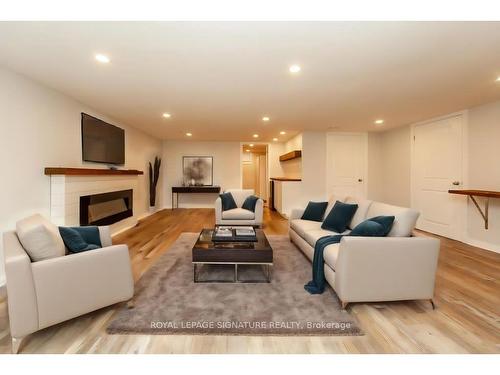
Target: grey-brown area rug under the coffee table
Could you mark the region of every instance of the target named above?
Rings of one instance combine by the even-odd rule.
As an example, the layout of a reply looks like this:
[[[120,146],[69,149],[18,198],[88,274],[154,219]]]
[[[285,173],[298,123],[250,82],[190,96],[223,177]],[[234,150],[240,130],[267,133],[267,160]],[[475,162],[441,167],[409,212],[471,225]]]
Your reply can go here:
[[[311,295],[311,263],[286,236],[268,236],[274,251],[271,283],[194,283],[183,233],[136,284],[134,307],[121,308],[110,334],[362,335],[330,287]],[[227,278],[231,266],[203,266],[200,279]],[[259,266],[239,268],[241,280],[264,278]]]

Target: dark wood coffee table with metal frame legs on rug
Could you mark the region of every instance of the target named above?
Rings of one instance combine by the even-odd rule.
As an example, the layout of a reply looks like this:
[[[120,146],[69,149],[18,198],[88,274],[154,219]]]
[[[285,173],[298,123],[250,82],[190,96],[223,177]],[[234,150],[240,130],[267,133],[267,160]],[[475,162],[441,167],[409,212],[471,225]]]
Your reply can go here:
[[[234,265],[232,281],[210,280],[205,282],[259,283],[271,282],[273,249],[262,229],[255,229],[257,242],[213,242],[214,229],[203,229],[193,247],[193,280],[198,280],[198,266],[204,264]],[[265,280],[239,280],[238,265],[261,265],[265,267]]]

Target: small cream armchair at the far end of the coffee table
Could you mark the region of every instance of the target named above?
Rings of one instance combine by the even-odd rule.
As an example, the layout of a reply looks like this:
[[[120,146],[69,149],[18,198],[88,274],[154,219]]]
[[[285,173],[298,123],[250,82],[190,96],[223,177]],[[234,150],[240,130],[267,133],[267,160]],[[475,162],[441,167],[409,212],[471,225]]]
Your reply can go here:
[[[264,201],[259,198],[255,204],[255,212],[241,208],[245,199],[254,195],[253,189],[229,189],[225,191],[231,193],[238,208],[222,211],[222,201],[220,197],[215,201],[215,224],[216,225],[252,225],[261,226],[264,213]]]

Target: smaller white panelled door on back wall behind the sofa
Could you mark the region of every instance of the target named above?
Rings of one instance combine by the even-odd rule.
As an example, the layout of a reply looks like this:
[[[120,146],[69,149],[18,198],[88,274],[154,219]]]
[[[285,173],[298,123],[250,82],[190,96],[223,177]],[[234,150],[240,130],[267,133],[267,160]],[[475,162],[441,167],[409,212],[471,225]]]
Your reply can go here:
[[[327,137],[327,193],[366,198],[367,135],[329,133]]]

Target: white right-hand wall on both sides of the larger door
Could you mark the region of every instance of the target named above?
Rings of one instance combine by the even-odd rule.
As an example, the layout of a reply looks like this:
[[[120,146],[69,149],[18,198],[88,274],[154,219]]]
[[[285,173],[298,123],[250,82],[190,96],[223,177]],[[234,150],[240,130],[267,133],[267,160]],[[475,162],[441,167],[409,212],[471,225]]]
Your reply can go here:
[[[463,188],[500,191],[500,101],[469,109],[467,127],[468,156],[464,162],[468,184]],[[369,161],[369,199],[410,206],[410,130],[407,125],[370,135],[369,155],[377,161]],[[467,242],[500,252],[500,200],[490,199],[489,218],[490,229],[485,230],[476,207],[468,202]]]

